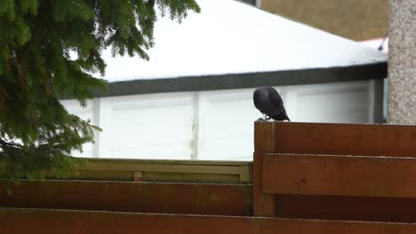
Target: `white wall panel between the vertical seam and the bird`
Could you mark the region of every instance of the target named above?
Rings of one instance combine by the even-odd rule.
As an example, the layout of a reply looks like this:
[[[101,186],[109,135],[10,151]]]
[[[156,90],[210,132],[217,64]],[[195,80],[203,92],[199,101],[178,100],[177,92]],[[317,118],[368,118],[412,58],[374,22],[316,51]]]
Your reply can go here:
[[[201,92],[199,160],[252,158],[253,121],[260,116],[252,104],[252,91]]]

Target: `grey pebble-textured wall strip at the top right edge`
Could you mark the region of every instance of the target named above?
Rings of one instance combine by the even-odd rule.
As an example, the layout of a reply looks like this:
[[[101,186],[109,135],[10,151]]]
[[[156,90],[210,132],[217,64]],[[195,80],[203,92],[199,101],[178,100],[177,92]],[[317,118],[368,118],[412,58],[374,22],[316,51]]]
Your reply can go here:
[[[388,123],[416,124],[416,1],[390,0]]]

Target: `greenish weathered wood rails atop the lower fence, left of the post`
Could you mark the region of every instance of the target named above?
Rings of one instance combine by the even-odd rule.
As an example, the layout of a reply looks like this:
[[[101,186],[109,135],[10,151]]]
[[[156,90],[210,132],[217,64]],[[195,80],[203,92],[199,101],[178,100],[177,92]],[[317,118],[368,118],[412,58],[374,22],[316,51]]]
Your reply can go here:
[[[251,168],[249,161],[88,159],[87,167],[76,171],[69,179],[252,183]]]

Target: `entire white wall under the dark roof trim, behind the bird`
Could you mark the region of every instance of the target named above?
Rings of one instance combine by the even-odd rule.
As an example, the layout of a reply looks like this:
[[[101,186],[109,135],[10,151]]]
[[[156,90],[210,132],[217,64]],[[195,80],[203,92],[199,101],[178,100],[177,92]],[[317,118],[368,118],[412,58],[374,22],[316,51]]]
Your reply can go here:
[[[97,98],[71,113],[99,125],[95,145],[84,157],[252,160],[254,124],[262,114],[254,89],[156,93]],[[372,81],[276,87],[292,121],[372,122]],[[75,154],[80,156],[80,154]]]

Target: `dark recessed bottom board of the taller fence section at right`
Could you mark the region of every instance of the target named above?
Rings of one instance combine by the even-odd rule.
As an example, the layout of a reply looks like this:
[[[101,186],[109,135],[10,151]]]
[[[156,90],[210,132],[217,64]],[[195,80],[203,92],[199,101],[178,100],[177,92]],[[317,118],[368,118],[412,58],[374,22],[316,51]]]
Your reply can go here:
[[[416,222],[416,199],[276,194],[276,217]]]

